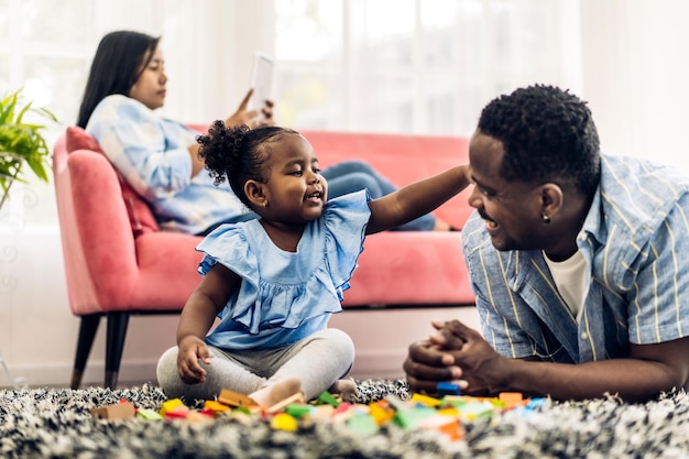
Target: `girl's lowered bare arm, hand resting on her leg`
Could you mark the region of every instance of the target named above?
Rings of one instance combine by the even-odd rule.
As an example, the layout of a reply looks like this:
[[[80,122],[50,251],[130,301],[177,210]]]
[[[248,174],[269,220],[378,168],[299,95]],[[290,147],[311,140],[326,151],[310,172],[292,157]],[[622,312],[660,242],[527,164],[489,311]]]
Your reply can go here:
[[[198,361],[210,364],[206,335],[240,282],[241,278],[232,271],[216,264],[184,305],[177,326],[177,371],[185,383],[205,381],[206,370]]]

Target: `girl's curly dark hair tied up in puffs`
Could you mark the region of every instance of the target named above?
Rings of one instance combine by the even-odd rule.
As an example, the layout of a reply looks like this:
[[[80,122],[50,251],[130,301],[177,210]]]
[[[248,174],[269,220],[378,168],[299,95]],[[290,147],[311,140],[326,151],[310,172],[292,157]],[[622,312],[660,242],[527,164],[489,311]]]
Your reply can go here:
[[[227,127],[221,120],[215,121],[206,134],[198,135],[198,156],[206,162],[216,185],[227,181],[232,192],[249,208],[251,201],[244,194],[247,181],[267,182],[263,164],[271,154],[272,142],[284,134],[298,134],[297,131],[276,125],[262,125],[250,129],[245,124]]]

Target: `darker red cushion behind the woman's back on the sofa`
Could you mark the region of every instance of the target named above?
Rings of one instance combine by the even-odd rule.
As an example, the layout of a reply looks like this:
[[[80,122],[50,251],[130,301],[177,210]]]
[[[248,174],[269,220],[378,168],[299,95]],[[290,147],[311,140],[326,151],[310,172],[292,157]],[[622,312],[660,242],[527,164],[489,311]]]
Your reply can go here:
[[[96,153],[100,153],[105,156],[102,150],[88,132],[78,125],[70,125],[67,128],[65,144],[67,153],[72,153],[76,150],[91,150]],[[122,188],[122,199],[129,214],[129,221],[132,226],[132,232],[134,237],[139,237],[146,232],[160,231],[157,221],[151,211],[151,208],[146,201],[139,196],[136,192],[127,183],[124,177],[113,168],[118,179],[120,181],[120,187]]]

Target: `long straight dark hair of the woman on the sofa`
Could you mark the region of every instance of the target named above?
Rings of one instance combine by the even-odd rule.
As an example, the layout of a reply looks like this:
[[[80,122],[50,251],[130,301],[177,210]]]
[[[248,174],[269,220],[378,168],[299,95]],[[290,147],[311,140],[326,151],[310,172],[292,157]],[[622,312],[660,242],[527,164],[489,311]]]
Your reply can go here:
[[[94,109],[106,97],[129,96],[153,58],[160,40],[160,36],[132,31],[110,32],[100,40],[84,89],[77,125],[86,128]]]

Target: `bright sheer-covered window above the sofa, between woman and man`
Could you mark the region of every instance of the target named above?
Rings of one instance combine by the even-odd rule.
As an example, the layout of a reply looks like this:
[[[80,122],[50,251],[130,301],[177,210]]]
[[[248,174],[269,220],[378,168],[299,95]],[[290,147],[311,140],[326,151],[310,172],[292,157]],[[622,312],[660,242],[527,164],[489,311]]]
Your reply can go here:
[[[577,4],[276,0],[277,107],[297,129],[471,133],[496,94],[579,86]],[[394,11],[394,14],[392,13]]]

